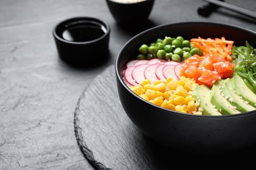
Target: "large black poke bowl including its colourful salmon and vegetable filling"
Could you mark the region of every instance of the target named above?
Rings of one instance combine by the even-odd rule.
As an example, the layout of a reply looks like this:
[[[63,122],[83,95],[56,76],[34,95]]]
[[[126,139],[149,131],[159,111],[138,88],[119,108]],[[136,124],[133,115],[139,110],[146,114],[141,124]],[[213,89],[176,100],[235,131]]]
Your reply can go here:
[[[254,31],[210,22],[139,33],[115,63],[125,113],[144,135],[177,150],[229,152],[255,144],[255,40]]]

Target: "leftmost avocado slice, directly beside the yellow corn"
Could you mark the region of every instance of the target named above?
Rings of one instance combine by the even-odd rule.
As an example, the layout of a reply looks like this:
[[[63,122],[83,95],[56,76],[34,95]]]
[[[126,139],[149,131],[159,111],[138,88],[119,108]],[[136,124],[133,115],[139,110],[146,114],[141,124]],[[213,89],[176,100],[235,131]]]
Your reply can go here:
[[[210,102],[210,92],[211,90],[205,85],[198,86],[192,92],[193,97],[198,103],[200,103],[200,108],[203,109],[203,114],[205,115],[222,115],[214,105]]]

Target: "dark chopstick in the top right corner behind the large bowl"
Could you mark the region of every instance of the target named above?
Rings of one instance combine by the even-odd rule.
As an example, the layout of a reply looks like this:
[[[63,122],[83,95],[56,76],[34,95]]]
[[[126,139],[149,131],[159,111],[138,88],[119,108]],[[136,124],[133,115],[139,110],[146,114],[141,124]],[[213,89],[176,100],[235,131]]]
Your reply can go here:
[[[219,7],[223,7],[225,9],[234,10],[236,12],[239,12],[240,14],[245,14],[247,16],[256,18],[256,12],[244,9],[242,7],[238,7],[238,6],[232,5],[230,3],[225,3],[223,1],[215,1],[215,0],[203,0],[203,1],[205,1],[207,3],[214,4],[214,5],[218,5]]]

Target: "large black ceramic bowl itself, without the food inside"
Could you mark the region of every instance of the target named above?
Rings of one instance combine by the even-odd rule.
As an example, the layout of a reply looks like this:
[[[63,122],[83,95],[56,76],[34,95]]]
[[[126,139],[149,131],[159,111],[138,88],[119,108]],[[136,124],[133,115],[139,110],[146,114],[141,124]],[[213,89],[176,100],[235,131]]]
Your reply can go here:
[[[162,144],[190,152],[227,152],[256,143],[256,110],[232,116],[203,116],[163,109],[133,93],[123,81],[127,61],[135,59],[141,44],[181,35],[226,37],[236,46],[256,46],[256,33],[242,27],[204,22],[160,25],[128,41],[116,59],[116,79],[123,109],[142,133]]]

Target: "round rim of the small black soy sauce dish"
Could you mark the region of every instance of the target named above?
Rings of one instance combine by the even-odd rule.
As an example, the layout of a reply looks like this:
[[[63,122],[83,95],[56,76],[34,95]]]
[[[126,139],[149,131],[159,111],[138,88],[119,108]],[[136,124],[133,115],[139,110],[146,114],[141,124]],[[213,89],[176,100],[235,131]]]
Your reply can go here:
[[[104,33],[104,35],[102,35],[101,37],[98,37],[97,39],[93,39],[91,41],[83,41],[83,42],[68,41],[58,36],[58,33],[56,31],[58,27],[60,27],[61,25],[66,25],[72,22],[79,22],[79,21],[88,21],[88,22],[93,22],[95,24],[101,24],[106,28],[106,33]],[[64,44],[73,44],[73,45],[92,44],[93,42],[98,42],[102,39],[105,39],[105,37],[107,37],[109,34],[110,34],[110,25],[107,22],[104,22],[103,20],[90,17],[90,16],[77,16],[73,18],[68,18],[66,20],[62,20],[61,22],[58,22],[58,24],[56,24],[53,27],[53,37],[59,42],[63,42]]]

